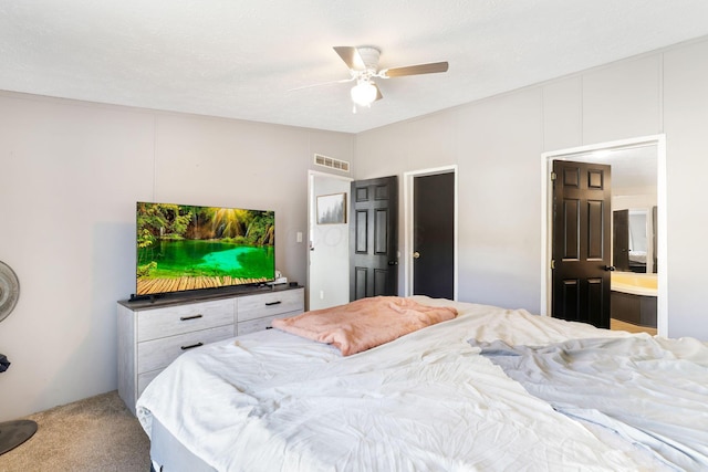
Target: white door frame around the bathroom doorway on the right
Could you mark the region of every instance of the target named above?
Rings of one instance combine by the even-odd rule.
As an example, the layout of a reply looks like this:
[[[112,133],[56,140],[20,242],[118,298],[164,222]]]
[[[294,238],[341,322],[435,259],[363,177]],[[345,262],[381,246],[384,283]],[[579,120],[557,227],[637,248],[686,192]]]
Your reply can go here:
[[[658,270],[658,298],[656,327],[659,336],[668,335],[668,256],[667,256],[667,200],[666,200],[666,135],[650,135],[631,139],[622,139],[610,143],[600,143],[589,146],[580,146],[570,149],[560,149],[541,155],[541,314],[551,314],[551,254],[552,252],[552,217],[553,186],[551,185],[551,171],[553,160],[572,158],[573,155],[583,155],[592,151],[622,149],[637,146],[656,146],[657,182],[657,249],[656,258]]]

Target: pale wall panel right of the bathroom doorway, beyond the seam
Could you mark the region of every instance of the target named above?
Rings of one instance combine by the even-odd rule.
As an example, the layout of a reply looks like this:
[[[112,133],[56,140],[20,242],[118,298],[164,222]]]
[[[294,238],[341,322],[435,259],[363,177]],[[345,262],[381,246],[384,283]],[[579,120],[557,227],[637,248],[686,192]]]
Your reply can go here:
[[[664,54],[664,129],[668,175],[669,334],[708,340],[708,41]],[[662,268],[659,268],[659,271]]]

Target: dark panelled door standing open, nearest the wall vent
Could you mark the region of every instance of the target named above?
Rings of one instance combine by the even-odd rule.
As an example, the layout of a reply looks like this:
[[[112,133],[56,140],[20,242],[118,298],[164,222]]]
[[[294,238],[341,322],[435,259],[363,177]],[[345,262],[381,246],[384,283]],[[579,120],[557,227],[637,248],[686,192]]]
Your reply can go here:
[[[398,294],[398,178],[352,182],[350,300]]]

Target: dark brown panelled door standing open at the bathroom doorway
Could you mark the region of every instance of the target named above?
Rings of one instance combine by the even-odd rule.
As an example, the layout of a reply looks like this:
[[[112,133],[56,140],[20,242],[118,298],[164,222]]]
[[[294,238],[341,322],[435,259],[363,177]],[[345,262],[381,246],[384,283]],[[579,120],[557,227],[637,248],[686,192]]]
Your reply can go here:
[[[610,327],[610,166],[553,162],[553,317]]]

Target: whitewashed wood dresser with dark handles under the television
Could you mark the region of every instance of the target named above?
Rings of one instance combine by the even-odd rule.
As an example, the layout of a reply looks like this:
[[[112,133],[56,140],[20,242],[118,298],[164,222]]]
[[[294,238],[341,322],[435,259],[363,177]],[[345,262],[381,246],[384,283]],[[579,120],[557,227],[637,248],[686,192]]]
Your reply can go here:
[[[118,395],[135,415],[145,387],[180,354],[303,311],[300,286],[118,302]]]

